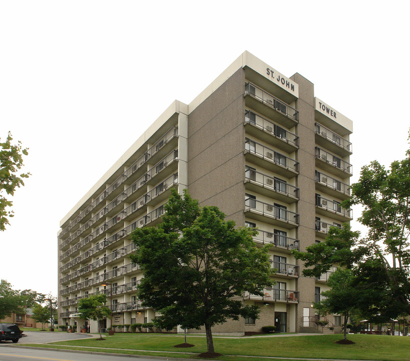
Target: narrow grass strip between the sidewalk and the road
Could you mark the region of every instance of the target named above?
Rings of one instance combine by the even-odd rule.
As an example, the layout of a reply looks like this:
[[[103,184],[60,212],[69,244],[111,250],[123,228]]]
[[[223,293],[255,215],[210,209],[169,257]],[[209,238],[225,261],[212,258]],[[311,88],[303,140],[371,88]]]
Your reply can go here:
[[[62,345],[55,345],[55,344],[37,344],[37,343],[26,343],[22,344],[22,346],[29,346],[29,347],[38,347],[38,348],[49,348],[49,349],[66,349],[66,350],[77,350],[77,351],[88,351],[88,352],[104,352],[104,353],[119,353],[119,354],[132,354],[132,355],[140,355],[140,356],[157,356],[157,357],[173,357],[173,358],[187,358],[187,359],[195,359],[195,358],[203,358],[197,357],[196,354],[188,354],[188,353],[171,353],[171,352],[149,352],[149,351],[138,351],[138,350],[108,350],[105,348],[88,348],[88,347],[72,347],[72,346],[62,346]],[[175,348],[178,349],[178,348]],[[192,349],[192,348],[189,348]],[[180,348],[179,348],[180,350]],[[183,351],[181,351],[183,352]],[[248,356],[247,358],[239,357],[239,356],[226,356],[222,355],[217,357],[218,360],[222,361],[267,361],[266,358],[255,357],[255,356]],[[272,361],[289,361],[289,358],[274,358]]]

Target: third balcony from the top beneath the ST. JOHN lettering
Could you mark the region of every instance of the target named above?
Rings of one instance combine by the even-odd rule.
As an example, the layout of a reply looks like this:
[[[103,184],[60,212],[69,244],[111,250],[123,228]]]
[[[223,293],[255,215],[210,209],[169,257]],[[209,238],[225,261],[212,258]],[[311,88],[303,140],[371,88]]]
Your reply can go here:
[[[286,178],[299,174],[299,162],[252,140],[245,142],[245,158]]]

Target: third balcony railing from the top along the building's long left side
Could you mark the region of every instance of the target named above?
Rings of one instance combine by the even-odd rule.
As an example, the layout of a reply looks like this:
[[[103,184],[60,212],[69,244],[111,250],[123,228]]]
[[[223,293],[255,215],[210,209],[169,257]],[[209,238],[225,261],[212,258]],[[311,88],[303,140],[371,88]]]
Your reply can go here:
[[[60,256],[60,261],[64,260],[77,250],[79,250],[81,247],[85,246],[87,243],[91,242],[94,238],[96,238],[98,235],[101,233],[106,232],[108,229],[110,229],[112,226],[117,224],[117,222],[122,221],[124,218],[129,216],[130,214],[136,212],[139,208],[145,205],[146,202],[151,201],[155,197],[157,197],[159,194],[165,192],[167,189],[172,187],[174,184],[178,183],[178,175],[177,173],[172,174],[169,176],[167,179],[164,180],[164,182],[161,182],[157,187],[155,187],[152,191],[146,193],[144,196],[139,198],[136,202],[132,203],[130,206],[128,206],[125,210],[122,210],[119,212],[117,215],[112,217],[108,222],[104,223],[102,226],[99,226],[94,232],[92,232],[90,235],[88,235],[86,238],[75,244],[73,247],[71,247],[68,251],[64,252]],[[136,192],[137,187],[135,189],[132,189],[132,186],[127,189],[127,191],[124,193],[124,200],[131,195],[132,193]]]

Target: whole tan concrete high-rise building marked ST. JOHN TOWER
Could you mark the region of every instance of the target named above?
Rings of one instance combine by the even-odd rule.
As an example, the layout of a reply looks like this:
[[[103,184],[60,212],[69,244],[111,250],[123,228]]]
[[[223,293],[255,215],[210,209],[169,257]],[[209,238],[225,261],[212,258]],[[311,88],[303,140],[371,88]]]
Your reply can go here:
[[[352,219],[338,206],[350,195],[351,132],[352,122],[316,98],[309,80],[298,73],[287,78],[243,53],[190,104],[171,104],[63,218],[60,324],[83,322],[79,299],[100,292],[112,297],[113,323],[155,317],[136,297],[142,271],[127,258],[134,249],[129,235],[160,222],[170,188],[187,188],[238,227],[258,227],[254,240],[272,246],[277,270],[277,283],[263,297],[244,294],[244,302],[261,307],[260,318],[230,320],[214,333],[309,327],[311,305],[333,270],[303,277],[292,250],[305,250],[330,226]]]

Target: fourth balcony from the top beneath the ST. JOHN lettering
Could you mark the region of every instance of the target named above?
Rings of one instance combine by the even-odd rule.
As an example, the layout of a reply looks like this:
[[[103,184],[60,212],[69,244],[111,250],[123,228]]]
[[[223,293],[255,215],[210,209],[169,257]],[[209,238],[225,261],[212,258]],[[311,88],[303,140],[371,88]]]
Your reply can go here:
[[[299,188],[253,169],[245,171],[245,185],[246,189],[285,203],[294,203],[299,200]]]

